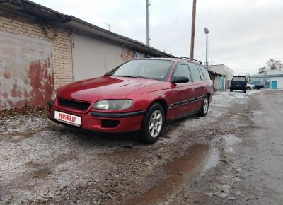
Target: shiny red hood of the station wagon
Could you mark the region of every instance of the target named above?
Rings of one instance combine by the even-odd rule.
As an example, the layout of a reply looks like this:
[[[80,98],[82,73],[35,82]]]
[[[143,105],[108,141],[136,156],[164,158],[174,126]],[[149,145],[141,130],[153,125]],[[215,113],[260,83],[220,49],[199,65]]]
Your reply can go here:
[[[161,81],[103,76],[62,86],[57,89],[57,96],[87,102],[103,99],[125,99],[130,93],[156,83],[161,83]]]

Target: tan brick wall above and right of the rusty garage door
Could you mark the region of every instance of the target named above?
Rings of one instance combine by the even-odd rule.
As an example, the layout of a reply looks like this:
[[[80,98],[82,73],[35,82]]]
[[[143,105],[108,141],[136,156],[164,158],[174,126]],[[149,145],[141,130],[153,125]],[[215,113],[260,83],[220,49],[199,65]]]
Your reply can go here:
[[[24,18],[10,18],[0,16],[0,30],[7,33],[25,35],[37,39],[51,41],[53,45],[52,66],[54,74],[54,88],[58,88],[73,81],[71,59],[71,33],[61,28],[52,28],[45,32],[44,25],[28,23]],[[54,37],[54,33],[57,37]],[[47,35],[49,37],[47,37]]]

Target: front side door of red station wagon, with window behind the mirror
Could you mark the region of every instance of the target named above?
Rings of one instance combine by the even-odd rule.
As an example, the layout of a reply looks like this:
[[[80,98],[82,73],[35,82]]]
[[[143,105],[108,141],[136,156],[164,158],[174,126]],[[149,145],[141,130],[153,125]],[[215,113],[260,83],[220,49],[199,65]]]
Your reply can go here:
[[[171,80],[176,76],[185,76],[189,78],[187,83],[172,83],[172,95],[171,102],[173,102],[173,108],[171,109],[172,118],[180,115],[185,115],[188,112],[192,112],[191,101],[194,100],[194,88],[192,78],[190,76],[189,67],[187,62],[183,61],[177,64],[173,72]]]

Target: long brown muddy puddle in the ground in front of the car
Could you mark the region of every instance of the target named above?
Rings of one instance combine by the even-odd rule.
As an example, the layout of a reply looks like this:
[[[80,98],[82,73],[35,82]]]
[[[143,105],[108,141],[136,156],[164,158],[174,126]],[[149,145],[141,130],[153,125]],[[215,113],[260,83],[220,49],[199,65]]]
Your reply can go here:
[[[127,199],[125,204],[156,204],[163,203],[168,194],[184,182],[190,182],[192,177],[216,166],[219,160],[219,152],[216,148],[210,148],[207,144],[194,144],[190,146],[185,155],[167,163],[164,166],[166,177],[158,180],[139,197]]]

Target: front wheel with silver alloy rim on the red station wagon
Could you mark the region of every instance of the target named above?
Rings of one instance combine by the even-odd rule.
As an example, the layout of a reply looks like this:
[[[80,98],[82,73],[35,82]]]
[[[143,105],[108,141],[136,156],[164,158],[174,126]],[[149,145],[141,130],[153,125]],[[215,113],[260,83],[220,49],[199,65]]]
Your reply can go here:
[[[141,125],[141,141],[145,144],[156,142],[163,131],[164,122],[165,115],[163,107],[159,103],[154,103],[144,115]]]

